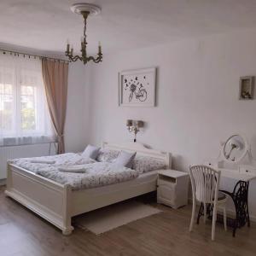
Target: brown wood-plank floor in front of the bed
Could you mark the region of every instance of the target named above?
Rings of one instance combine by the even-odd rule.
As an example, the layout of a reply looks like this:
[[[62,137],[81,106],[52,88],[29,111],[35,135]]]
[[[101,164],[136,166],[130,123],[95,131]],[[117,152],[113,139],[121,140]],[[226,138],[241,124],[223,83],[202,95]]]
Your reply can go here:
[[[126,224],[101,236],[76,229],[72,236],[21,207],[0,187],[0,255],[256,255],[256,224],[237,231],[236,238],[221,224],[211,241],[211,223],[189,233],[191,207],[164,212]],[[156,206],[156,204],[154,204]]]

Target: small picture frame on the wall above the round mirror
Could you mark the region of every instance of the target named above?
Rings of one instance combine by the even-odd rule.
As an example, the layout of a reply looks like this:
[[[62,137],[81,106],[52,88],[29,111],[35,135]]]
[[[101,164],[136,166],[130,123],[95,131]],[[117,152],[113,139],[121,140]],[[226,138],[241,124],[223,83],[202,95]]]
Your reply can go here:
[[[254,94],[254,77],[246,76],[240,78],[239,83],[239,99],[253,100]]]

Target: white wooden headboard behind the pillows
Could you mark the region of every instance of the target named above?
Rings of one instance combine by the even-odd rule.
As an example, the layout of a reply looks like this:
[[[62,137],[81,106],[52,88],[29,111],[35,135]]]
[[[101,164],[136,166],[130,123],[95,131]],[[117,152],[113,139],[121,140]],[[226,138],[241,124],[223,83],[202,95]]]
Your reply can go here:
[[[142,143],[102,143],[102,148],[109,148],[113,150],[136,151],[139,155],[154,157],[156,159],[165,160],[166,169],[172,168],[172,154],[169,152],[162,152],[151,148],[146,148]]]

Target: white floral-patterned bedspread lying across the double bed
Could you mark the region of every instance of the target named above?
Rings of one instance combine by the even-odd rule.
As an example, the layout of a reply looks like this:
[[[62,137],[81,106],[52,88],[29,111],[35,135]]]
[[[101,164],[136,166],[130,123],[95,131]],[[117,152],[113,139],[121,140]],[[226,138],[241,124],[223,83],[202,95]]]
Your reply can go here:
[[[33,160],[53,160],[54,164],[33,163]],[[56,183],[67,184],[72,189],[90,189],[114,183],[122,183],[139,176],[139,172],[126,167],[116,167],[108,162],[96,162],[83,158],[81,154],[67,153],[53,156],[12,160],[16,166],[47,177]],[[84,173],[60,172],[61,166],[84,167]]]

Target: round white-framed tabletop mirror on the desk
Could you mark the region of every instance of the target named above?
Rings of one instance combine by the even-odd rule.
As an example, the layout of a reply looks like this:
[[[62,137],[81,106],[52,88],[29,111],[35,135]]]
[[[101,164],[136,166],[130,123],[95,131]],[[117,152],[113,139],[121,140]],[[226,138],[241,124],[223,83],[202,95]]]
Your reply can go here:
[[[247,154],[247,141],[241,135],[232,135],[224,143],[224,160],[239,162]]]

